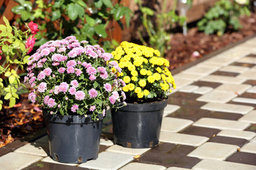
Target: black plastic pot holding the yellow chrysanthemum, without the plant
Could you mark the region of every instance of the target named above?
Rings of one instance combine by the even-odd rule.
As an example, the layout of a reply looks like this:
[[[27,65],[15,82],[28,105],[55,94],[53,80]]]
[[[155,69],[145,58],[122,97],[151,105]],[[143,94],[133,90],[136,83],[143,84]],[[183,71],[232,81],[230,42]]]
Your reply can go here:
[[[112,109],[114,143],[122,147],[149,148],[159,143],[167,100]]]

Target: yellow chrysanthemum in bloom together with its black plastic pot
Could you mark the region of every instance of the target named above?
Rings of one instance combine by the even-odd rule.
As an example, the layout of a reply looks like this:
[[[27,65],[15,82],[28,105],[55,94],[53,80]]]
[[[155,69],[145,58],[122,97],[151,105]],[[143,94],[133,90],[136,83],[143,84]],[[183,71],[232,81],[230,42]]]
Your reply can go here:
[[[127,106],[112,110],[114,143],[123,147],[146,148],[159,143],[161,120],[167,94],[176,88],[169,61],[159,50],[122,42],[112,52],[122,69]]]

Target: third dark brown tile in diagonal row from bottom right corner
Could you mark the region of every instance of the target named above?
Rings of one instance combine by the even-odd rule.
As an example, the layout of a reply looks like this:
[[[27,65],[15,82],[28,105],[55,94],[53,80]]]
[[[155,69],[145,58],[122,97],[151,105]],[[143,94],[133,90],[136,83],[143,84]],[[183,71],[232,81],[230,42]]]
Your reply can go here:
[[[213,137],[218,134],[220,130],[213,129],[213,128],[201,128],[197,126],[190,126],[189,128],[186,128],[186,130],[183,130],[179,133],[187,134],[187,135],[197,135],[197,136],[203,136],[203,137]]]

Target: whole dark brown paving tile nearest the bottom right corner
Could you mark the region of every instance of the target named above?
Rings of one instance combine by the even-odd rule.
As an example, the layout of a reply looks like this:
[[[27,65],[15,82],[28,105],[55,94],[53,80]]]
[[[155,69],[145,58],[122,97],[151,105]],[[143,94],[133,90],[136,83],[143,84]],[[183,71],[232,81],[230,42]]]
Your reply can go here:
[[[238,147],[242,147],[248,141],[245,139],[240,139],[240,138],[235,138],[235,137],[215,136],[215,137],[211,138],[208,142],[237,145]]]

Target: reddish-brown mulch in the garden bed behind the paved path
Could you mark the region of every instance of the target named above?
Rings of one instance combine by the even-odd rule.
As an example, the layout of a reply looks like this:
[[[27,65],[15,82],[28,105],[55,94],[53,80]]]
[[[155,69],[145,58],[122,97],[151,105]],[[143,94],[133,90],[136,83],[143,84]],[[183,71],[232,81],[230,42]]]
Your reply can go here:
[[[256,13],[242,17],[241,22],[242,28],[238,32],[225,33],[222,37],[199,33],[196,27],[189,28],[187,36],[175,33],[170,43],[171,50],[166,55],[170,61],[170,69],[193,62],[256,33]],[[28,94],[22,94],[14,108],[4,106],[0,111],[0,147],[43,127],[45,122],[41,107],[30,103]]]

